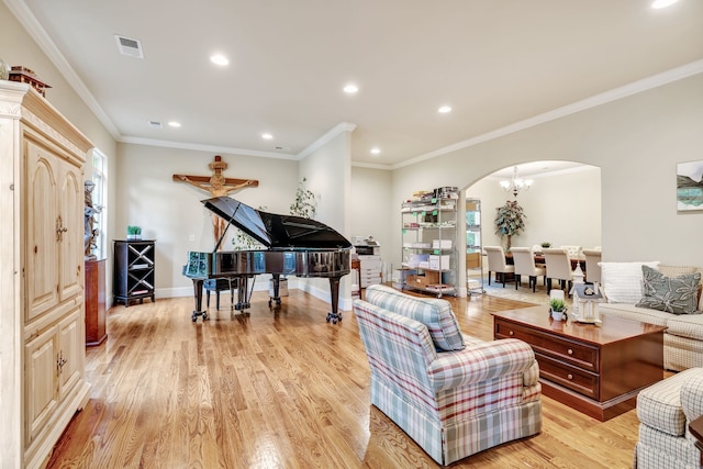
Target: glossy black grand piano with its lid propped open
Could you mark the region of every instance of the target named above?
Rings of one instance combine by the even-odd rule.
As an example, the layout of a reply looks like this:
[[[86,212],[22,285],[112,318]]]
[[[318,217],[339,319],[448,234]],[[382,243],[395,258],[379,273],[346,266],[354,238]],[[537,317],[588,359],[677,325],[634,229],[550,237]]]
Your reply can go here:
[[[202,316],[203,321],[208,320],[208,312],[202,310],[205,280],[227,278],[236,282],[235,309],[245,311],[250,308],[254,289],[254,281],[249,289],[249,280],[259,273],[270,273],[272,277],[274,295],[269,299],[269,306],[272,302],[281,302],[280,276],[330,279],[332,311],[327,313],[326,321],[333,324],[342,321],[342,313],[338,311],[339,280],[349,273],[349,241],[324,223],[302,216],[264,212],[230,197],[215,197],[203,200],[202,203],[224,219],[227,226],[212,253],[188,253],[183,275],[193,281],[193,322],[198,316]],[[235,225],[266,249],[217,250],[230,225]]]

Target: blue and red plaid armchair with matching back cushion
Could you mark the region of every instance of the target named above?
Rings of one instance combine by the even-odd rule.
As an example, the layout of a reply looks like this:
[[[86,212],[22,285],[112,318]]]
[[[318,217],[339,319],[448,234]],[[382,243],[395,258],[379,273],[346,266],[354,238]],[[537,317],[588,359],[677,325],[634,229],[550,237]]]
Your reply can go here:
[[[380,284],[354,311],[371,404],[438,464],[542,431],[539,368],[527,344],[465,336],[449,302]]]

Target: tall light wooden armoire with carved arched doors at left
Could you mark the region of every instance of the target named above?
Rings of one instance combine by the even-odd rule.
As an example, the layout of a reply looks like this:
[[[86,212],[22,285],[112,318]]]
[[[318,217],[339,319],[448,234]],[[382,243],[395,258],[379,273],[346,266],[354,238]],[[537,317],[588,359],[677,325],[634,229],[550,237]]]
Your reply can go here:
[[[0,80],[0,466],[46,462],[88,402],[83,167],[91,143]]]

